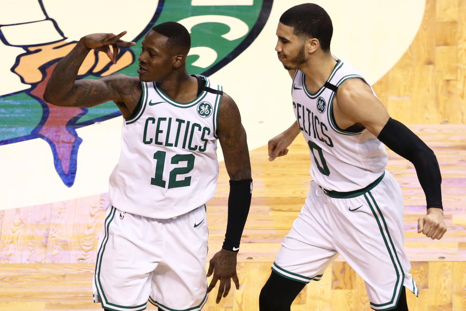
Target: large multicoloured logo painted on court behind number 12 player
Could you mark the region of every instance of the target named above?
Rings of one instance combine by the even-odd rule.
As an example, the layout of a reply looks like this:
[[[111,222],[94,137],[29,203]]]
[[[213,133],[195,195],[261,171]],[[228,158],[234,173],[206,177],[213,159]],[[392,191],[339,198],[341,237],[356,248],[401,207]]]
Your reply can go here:
[[[109,14],[105,19],[99,10],[81,8],[74,1],[42,0],[29,0],[28,14],[24,16],[20,14],[22,8],[14,5],[2,7],[6,11],[0,16],[0,50],[7,51],[2,52],[6,66],[0,69],[0,145],[44,139],[53,155],[50,161],[68,187],[75,181],[83,141],[76,129],[121,115],[112,102],[80,108],[57,107],[44,101],[51,72],[80,37],[125,29],[128,34],[123,39],[136,45],[120,48],[116,64],[102,52],[90,52],[80,68],[79,79],[114,73],[134,76],[144,36],[155,24],[177,21],[191,34],[187,71],[210,76],[250,46],[266,24],[273,2],[190,0],[180,5],[180,0],[153,0],[146,1],[144,12],[140,12],[139,6],[127,0],[101,2],[105,1],[125,8],[120,10],[121,16]],[[122,20],[118,28],[109,30],[108,25],[118,18]],[[212,114],[212,106],[200,105],[198,113],[206,118]]]

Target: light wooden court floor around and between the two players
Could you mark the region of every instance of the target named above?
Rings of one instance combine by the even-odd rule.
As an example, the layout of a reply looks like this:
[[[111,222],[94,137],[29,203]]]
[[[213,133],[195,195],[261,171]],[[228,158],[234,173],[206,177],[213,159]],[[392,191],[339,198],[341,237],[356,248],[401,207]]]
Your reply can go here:
[[[419,297],[411,311],[466,310],[466,1],[427,0],[415,40],[374,88],[392,117],[410,125],[434,150],[442,171],[448,231],[440,241],[417,234],[424,194],[411,163],[389,151],[388,170],[405,200],[405,249]],[[254,191],[238,254],[240,289],[203,310],[256,311],[260,289],[283,236],[304,203],[311,177],[309,153],[297,138],[290,153],[268,162],[266,146],[251,151]],[[220,167],[207,204],[210,258],[223,240],[228,176]],[[25,193],[27,195],[27,193]],[[100,310],[91,281],[106,194],[0,211],[0,310]],[[214,290],[215,291],[215,290]],[[149,310],[154,310],[152,306]],[[370,310],[363,280],[337,259],[322,280],[307,285],[292,311]]]

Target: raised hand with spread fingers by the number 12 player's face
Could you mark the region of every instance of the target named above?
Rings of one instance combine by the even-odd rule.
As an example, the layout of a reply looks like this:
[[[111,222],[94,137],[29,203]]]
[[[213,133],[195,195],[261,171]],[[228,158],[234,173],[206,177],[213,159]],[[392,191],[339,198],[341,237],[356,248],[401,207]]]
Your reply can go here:
[[[110,58],[110,60],[116,64],[116,56],[118,55],[118,46],[122,47],[131,47],[135,45],[135,42],[123,41],[120,38],[126,34],[126,30],[119,33],[118,35],[114,34],[91,34],[86,35],[81,38],[86,47],[94,49],[100,52],[104,52]],[[112,46],[113,52],[110,50],[110,45]]]

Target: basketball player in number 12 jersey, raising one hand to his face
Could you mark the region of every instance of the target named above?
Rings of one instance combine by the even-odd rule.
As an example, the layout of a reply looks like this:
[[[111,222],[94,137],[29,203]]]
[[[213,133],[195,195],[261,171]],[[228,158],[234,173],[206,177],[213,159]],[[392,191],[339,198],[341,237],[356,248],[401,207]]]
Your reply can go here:
[[[116,102],[124,121],[121,154],[110,176],[110,208],[99,240],[94,301],[112,311],[201,310],[216,282],[216,302],[231,279],[239,288],[236,254],[249,212],[252,179],[239,110],[222,86],[189,75],[188,31],[156,25],[145,36],[138,77],[76,80],[92,50],[116,62],[126,32],[86,35],[56,66],[44,99],[61,106]],[[220,140],[230,175],[228,223],[222,249],[210,260],[207,287],[206,206],[216,190]]]

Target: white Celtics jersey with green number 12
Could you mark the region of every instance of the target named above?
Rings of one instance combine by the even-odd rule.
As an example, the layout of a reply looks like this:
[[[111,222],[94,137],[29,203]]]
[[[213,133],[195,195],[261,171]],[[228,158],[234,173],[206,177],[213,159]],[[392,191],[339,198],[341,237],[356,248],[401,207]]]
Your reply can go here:
[[[185,214],[215,193],[217,116],[222,86],[206,85],[190,103],[170,99],[142,82],[142,104],[125,120],[121,154],[109,182],[110,203],[126,212],[167,219]]]

